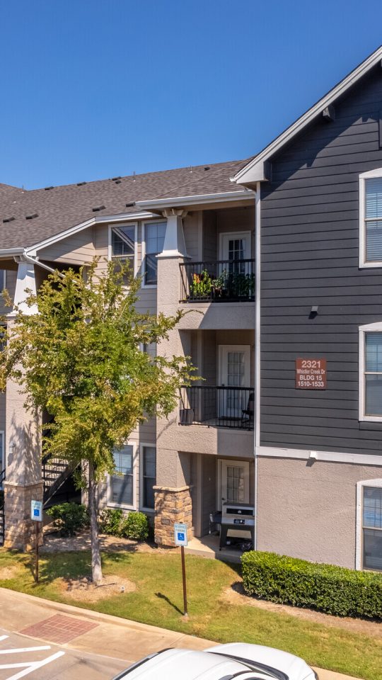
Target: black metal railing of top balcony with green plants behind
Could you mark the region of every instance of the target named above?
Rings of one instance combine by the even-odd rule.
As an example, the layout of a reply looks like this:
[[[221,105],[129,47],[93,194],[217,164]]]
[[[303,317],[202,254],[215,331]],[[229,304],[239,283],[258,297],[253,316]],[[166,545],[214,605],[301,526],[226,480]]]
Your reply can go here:
[[[255,260],[180,264],[181,302],[255,300]]]

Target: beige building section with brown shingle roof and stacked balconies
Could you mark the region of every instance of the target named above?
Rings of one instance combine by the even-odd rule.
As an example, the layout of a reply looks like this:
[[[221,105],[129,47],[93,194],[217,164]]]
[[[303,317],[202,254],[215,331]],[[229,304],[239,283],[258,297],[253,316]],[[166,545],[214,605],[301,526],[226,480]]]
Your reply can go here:
[[[52,268],[100,256],[127,259],[141,276],[139,309],[187,311],[163,346],[191,356],[203,378],[182,390],[170,419],[152,419],[115,452],[122,473],[105,479],[100,506],[156,515],[156,539],[173,543],[173,521],[190,536],[209,528],[227,489],[254,490],[255,194],[231,177],[245,162],[47,187],[1,188],[0,267],[14,302]],[[25,312],[28,310],[25,307]],[[13,311],[4,310],[11,323]],[[52,502],[70,470],[41,465],[36,423],[18,387],[0,395],[4,543],[30,540],[30,499]]]

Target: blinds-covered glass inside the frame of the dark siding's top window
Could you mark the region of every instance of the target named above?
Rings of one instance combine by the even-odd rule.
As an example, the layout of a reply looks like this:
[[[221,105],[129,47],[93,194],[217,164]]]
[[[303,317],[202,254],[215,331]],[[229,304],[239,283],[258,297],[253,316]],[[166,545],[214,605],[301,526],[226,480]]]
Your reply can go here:
[[[382,176],[365,179],[365,259],[382,261]]]

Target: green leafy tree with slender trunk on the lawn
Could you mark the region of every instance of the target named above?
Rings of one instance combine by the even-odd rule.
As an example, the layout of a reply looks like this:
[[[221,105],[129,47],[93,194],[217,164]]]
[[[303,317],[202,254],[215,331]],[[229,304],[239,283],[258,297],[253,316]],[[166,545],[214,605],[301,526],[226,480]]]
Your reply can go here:
[[[125,265],[98,259],[78,272],[54,271],[28,305],[16,309],[0,356],[0,387],[17,382],[31,412],[50,414],[43,430],[45,453],[86,467],[93,581],[102,580],[98,540],[97,485],[115,472],[113,450],[122,448],[138,423],[168,416],[178,388],[192,380],[185,357],[152,358],[144,344],[158,343],[180,320],[137,312],[140,280]],[[9,300],[8,300],[9,302]],[[84,466],[84,464],[86,464]]]

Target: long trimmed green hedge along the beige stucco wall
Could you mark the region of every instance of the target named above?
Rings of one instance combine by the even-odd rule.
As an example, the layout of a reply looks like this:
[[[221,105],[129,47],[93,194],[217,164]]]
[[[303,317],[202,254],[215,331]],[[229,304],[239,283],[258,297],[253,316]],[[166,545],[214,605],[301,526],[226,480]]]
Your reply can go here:
[[[382,574],[251,550],[241,557],[248,595],[336,616],[382,619]]]

